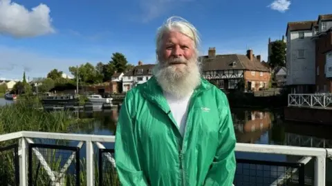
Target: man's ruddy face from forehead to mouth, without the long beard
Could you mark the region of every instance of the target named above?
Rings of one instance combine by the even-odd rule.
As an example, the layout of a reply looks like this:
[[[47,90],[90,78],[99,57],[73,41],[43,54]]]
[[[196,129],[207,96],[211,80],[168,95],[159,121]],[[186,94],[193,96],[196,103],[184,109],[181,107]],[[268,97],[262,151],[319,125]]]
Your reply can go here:
[[[185,34],[177,31],[167,32],[163,37],[163,45],[160,54],[162,54],[162,63],[164,66],[173,66],[174,70],[183,71],[194,60],[194,41]],[[194,61],[195,62],[195,61]]]

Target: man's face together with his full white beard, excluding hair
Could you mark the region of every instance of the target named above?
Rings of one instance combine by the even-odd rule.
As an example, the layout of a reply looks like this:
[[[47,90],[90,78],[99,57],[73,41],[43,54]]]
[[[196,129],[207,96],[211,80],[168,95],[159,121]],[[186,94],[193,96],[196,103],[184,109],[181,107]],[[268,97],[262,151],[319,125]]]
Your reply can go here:
[[[181,32],[165,34],[154,76],[165,92],[178,98],[190,94],[201,81],[194,41]]]

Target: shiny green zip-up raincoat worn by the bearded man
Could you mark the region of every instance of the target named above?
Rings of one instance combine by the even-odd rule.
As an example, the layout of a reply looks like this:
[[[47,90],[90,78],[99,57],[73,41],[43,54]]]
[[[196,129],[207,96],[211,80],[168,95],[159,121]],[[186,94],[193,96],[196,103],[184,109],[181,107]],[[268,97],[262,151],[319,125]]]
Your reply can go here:
[[[225,94],[202,79],[184,137],[177,126],[154,77],[127,92],[115,145],[122,185],[232,185],[236,138]]]

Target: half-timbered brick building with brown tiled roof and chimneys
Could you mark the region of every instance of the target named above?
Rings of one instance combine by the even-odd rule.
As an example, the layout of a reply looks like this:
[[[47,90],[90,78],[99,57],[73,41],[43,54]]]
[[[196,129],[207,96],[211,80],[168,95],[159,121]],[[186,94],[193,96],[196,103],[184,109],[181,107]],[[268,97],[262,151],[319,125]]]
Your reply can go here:
[[[223,90],[243,89],[258,91],[268,88],[270,70],[261,63],[261,56],[247,50],[247,54],[216,55],[210,48],[207,56],[201,56],[203,76]]]

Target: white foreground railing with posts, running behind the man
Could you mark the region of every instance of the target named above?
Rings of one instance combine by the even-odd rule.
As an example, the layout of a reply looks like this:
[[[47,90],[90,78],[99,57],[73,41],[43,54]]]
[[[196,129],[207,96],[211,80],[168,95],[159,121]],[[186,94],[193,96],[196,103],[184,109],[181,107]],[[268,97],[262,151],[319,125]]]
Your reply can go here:
[[[30,138],[44,138],[44,139],[57,139],[67,141],[80,141],[77,147],[82,147],[82,143],[86,144],[86,185],[94,185],[94,174],[93,174],[93,143],[99,148],[104,148],[102,143],[114,143],[115,136],[106,135],[91,135],[91,134],[65,134],[65,133],[53,133],[53,132],[14,132],[10,134],[0,135],[0,142],[9,141],[12,139],[19,139],[19,176],[20,185],[27,185],[27,147],[28,143],[33,143]],[[37,149],[36,149],[37,151]],[[261,144],[248,144],[248,143],[237,143],[237,152],[253,152],[263,154],[283,154],[293,156],[304,156],[315,159],[315,186],[325,185],[326,176],[326,158],[332,158],[332,149],[325,148],[311,148],[311,147],[293,147],[284,145],[261,145]],[[68,162],[71,162],[68,158]],[[111,154],[107,155],[107,159],[111,161],[112,165],[115,166],[115,161]],[[40,161],[40,160],[39,160]],[[47,163],[44,166],[48,166]],[[65,165],[62,169],[65,169]],[[58,183],[53,183],[57,185]]]

